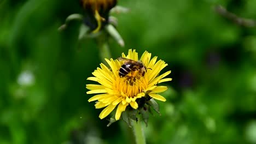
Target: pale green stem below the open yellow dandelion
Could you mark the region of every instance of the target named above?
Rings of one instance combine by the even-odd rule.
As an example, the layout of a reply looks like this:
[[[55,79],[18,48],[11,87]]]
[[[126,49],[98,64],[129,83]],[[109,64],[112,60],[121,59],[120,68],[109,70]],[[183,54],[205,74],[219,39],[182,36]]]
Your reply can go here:
[[[135,136],[135,140],[137,144],[146,144],[144,131],[143,131],[141,122],[139,121],[139,118],[138,118],[138,122],[132,120],[132,132]]]

